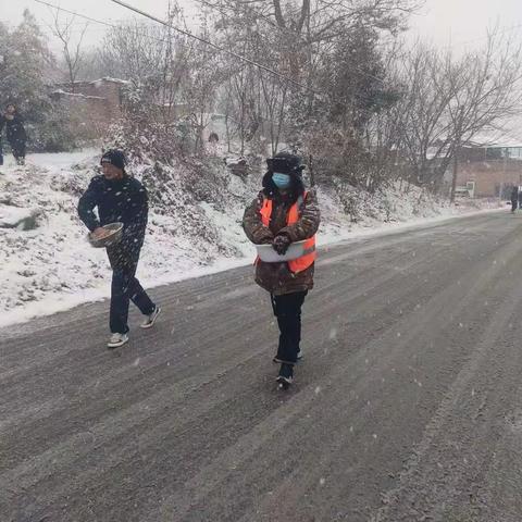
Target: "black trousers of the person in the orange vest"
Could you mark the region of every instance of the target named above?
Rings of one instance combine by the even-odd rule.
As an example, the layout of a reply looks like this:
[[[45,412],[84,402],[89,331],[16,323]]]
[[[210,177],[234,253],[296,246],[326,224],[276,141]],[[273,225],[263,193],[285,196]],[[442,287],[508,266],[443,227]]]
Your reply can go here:
[[[279,326],[277,359],[295,364],[301,341],[301,307],[308,291],[296,291],[283,296],[271,294],[274,315]]]

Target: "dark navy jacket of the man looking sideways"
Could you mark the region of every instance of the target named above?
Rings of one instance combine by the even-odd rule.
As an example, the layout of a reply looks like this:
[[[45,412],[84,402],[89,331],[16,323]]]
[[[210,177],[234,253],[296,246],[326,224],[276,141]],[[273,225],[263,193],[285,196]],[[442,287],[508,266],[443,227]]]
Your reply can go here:
[[[99,219],[94,209],[98,208]],[[147,189],[136,178],[108,181],[95,176],[78,201],[78,215],[89,231],[109,223],[123,223],[121,247],[135,260],[144,245],[149,213]]]

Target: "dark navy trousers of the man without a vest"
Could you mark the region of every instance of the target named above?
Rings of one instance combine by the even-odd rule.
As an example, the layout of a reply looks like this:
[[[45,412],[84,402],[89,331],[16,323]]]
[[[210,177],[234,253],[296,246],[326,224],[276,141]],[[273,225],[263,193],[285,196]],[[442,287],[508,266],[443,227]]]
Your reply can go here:
[[[156,304],[135,277],[139,251],[130,256],[123,248],[116,246],[108,248],[107,254],[112,268],[109,325],[113,334],[126,334],[128,332],[129,301],[133,301],[144,315],[152,313]]]

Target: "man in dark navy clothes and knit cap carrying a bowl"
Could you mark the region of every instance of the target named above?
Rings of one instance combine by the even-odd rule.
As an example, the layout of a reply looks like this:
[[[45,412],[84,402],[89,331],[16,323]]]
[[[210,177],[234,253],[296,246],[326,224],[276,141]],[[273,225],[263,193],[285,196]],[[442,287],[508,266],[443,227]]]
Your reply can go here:
[[[147,190],[125,171],[125,156],[108,150],[101,157],[103,175],[95,176],[79,198],[78,215],[94,237],[103,237],[103,225],[123,223],[123,238],[107,247],[112,268],[111,338],[107,346],[117,348],[128,341],[128,306],[132,300],[145,315],[142,328],[150,328],[161,309],[154,304],[136,278],[139,252],[144,245],[149,213]],[[98,209],[98,216],[94,209]]]

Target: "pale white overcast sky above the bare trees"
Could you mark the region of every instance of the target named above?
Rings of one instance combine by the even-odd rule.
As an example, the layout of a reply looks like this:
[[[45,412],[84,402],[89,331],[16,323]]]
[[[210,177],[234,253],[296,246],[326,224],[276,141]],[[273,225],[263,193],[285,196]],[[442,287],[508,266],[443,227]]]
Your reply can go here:
[[[48,1],[107,22],[138,16],[111,0]],[[164,16],[167,5],[167,0],[126,1],[158,17]],[[182,0],[182,2],[188,10],[188,18],[194,18],[199,5],[197,0]],[[52,10],[34,0],[0,0],[0,20],[15,25],[22,18],[25,8],[28,8],[42,25],[52,20]],[[459,48],[462,45],[480,45],[487,28],[497,23],[502,28],[508,28],[508,34],[522,41],[522,0],[426,0],[422,12],[411,20],[411,33],[412,36],[419,34],[427,37],[439,46],[451,45]],[[77,24],[79,29],[82,24],[79,18],[77,18]],[[521,27],[513,28],[517,25],[521,25]],[[104,30],[103,26],[90,24],[88,28],[89,44],[99,41]]]

